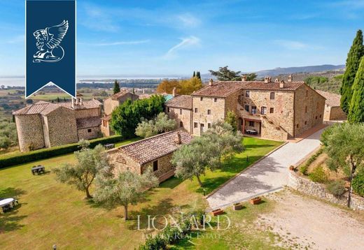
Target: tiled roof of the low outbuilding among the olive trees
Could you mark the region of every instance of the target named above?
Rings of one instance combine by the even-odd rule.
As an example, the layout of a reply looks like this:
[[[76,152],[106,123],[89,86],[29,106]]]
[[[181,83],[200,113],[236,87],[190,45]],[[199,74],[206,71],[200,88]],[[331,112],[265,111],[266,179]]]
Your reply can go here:
[[[181,144],[174,142],[177,133],[181,135]],[[118,147],[118,154],[125,154],[137,163],[144,164],[171,154],[181,147],[181,145],[190,143],[192,139],[193,136],[190,133],[178,129]]]

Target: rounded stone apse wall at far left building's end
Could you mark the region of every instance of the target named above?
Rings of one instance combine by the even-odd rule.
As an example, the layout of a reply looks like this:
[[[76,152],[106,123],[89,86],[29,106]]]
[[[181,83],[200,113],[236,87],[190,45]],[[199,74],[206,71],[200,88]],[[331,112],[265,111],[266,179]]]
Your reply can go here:
[[[33,149],[41,149],[45,146],[41,115],[16,115],[15,124],[20,152],[27,152],[30,145]]]

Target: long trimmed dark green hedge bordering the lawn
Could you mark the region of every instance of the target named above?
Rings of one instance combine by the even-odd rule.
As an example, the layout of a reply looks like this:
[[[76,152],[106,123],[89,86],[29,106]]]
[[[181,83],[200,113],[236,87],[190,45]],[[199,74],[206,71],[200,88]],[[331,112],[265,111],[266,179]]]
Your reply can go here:
[[[99,144],[104,145],[107,143],[120,142],[121,140],[123,140],[123,137],[120,135],[113,135],[107,138],[97,138],[94,140],[90,140],[90,147],[95,147]],[[47,159],[62,154],[69,154],[77,151],[78,149],[79,149],[78,143],[72,143],[58,147],[50,147],[47,149],[38,149],[31,152],[6,154],[0,156],[0,168],[6,168],[21,163],[28,163],[31,161]]]

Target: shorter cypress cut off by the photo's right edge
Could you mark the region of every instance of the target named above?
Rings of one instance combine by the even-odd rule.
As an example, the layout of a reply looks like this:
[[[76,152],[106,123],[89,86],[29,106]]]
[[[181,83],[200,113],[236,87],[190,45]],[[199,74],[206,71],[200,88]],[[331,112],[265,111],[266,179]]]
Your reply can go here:
[[[364,57],[361,58],[353,83],[348,120],[350,123],[364,122]]]

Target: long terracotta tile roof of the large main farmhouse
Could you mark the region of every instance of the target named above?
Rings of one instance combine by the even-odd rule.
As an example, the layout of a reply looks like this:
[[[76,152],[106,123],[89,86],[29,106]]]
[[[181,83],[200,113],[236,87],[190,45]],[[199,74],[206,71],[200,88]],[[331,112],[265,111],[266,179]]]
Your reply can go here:
[[[208,85],[196,91],[192,96],[215,96],[227,97],[239,89],[259,89],[259,90],[290,90],[298,89],[304,82],[284,82],[284,87],[279,87],[279,82],[265,83],[263,81],[218,81],[213,85]]]

